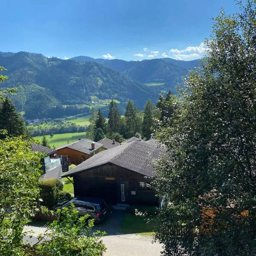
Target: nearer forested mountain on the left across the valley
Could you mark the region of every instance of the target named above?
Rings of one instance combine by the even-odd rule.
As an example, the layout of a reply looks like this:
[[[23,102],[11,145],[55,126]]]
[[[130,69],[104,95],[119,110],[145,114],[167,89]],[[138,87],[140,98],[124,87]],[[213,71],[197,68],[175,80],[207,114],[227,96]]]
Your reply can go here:
[[[96,62],[46,58],[42,54],[0,52],[3,74],[0,87],[22,86],[12,97],[19,110],[38,117],[55,105],[91,104],[91,96],[117,99],[124,105],[132,99],[140,108],[148,98],[156,101],[158,88],[133,81],[124,74]]]

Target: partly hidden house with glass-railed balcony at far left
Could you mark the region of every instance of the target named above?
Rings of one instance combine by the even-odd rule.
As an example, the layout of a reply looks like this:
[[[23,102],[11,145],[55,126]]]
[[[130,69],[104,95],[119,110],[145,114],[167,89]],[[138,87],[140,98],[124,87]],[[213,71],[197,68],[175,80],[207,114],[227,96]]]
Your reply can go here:
[[[61,180],[62,166],[60,158],[50,158],[50,154],[54,154],[55,150],[52,148],[44,147],[39,144],[32,144],[32,151],[37,151],[40,153],[46,153],[46,156],[41,158],[41,164],[43,169],[43,175],[41,180],[46,180],[49,178],[56,178]]]

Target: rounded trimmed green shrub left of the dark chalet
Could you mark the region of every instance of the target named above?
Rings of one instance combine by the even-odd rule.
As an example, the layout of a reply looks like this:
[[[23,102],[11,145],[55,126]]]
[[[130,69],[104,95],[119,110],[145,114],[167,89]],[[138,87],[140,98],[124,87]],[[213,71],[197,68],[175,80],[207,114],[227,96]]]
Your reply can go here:
[[[41,189],[40,197],[43,200],[41,205],[52,209],[59,201],[63,184],[58,179],[51,178],[41,181],[39,188]]]

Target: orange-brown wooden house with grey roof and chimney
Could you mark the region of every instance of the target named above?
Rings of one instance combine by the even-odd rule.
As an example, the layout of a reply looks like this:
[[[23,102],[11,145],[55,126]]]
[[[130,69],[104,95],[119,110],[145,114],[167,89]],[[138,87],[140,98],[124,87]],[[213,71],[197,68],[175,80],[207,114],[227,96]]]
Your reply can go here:
[[[76,165],[102,150],[105,150],[102,144],[87,139],[78,140],[55,149],[57,157],[61,158],[61,164],[73,163]]]

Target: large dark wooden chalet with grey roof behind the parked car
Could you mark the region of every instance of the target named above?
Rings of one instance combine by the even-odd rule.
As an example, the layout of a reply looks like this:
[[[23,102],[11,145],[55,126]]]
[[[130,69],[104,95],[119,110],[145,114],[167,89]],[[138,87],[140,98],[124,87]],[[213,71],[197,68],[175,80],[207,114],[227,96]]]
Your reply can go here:
[[[152,160],[166,150],[133,141],[94,155],[61,177],[73,177],[75,196],[103,198],[113,204],[159,205],[148,184],[155,176]]]

